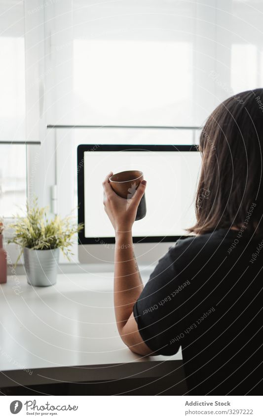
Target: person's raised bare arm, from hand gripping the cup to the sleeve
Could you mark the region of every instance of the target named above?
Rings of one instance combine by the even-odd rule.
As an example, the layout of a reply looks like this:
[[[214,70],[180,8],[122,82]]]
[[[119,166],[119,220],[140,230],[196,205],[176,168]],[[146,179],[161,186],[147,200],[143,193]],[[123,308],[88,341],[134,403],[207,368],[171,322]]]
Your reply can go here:
[[[115,230],[114,255],[114,308],[118,332],[122,341],[134,353],[152,354],[143,341],[133,316],[133,306],[143,290],[143,282],[136,262],[132,241],[132,224],[146,183],[141,184],[128,207],[126,199],[114,193],[108,175],[103,183],[105,210]]]

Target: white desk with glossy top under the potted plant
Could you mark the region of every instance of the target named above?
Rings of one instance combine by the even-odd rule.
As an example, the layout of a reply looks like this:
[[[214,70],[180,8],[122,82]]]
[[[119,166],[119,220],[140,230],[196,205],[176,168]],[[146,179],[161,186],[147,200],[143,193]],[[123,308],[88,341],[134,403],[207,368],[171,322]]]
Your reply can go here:
[[[50,287],[10,276],[0,285],[0,387],[160,377],[181,366],[181,352],[141,357],[122,343],[113,273],[60,274]]]

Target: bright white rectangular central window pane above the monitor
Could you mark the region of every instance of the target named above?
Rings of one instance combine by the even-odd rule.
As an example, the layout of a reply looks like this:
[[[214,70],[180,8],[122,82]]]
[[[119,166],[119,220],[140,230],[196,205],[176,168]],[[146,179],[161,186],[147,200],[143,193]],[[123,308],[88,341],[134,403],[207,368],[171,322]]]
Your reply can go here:
[[[192,43],[74,40],[74,120],[79,124],[191,124]]]

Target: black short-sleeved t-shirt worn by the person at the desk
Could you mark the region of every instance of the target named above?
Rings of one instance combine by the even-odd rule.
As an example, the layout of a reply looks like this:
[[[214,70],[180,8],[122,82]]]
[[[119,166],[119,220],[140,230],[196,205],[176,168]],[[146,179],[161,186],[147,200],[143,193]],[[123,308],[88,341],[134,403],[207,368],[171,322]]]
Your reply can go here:
[[[180,239],[134,305],[156,354],[182,346],[191,395],[262,395],[263,240],[219,229]]]

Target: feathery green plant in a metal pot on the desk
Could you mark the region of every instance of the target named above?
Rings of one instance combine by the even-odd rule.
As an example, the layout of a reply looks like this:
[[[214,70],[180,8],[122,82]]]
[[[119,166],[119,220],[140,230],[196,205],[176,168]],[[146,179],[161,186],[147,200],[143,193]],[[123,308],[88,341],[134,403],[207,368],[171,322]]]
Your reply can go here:
[[[49,221],[46,207],[39,208],[37,199],[34,199],[31,208],[27,203],[26,210],[25,217],[17,216],[15,223],[10,225],[14,229],[14,236],[8,243],[19,245],[17,261],[24,254],[28,283],[50,286],[56,283],[59,250],[70,260],[74,235],[83,229],[83,225],[74,223],[72,215],[64,219],[55,216]]]

